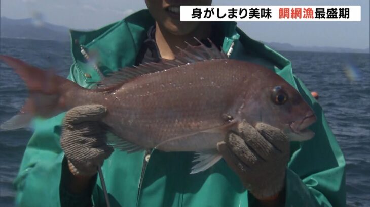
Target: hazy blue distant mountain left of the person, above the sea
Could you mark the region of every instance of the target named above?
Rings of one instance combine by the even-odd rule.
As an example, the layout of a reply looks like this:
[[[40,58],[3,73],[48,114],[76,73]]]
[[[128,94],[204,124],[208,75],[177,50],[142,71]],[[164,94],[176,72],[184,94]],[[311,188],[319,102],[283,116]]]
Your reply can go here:
[[[69,41],[69,30],[46,22],[38,26],[31,18],[0,17],[0,37]]]

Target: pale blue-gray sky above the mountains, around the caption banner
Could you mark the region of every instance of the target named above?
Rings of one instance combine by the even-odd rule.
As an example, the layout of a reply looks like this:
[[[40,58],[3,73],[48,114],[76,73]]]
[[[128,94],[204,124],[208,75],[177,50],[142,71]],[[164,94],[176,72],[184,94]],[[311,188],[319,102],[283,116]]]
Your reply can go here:
[[[298,3],[299,2],[299,3]],[[238,22],[250,37],[298,46],[368,48],[369,0],[213,0],[213,5],[360,5],[361,22]],[[94,29],[145,8],[144,0],[1,0],[0,15],[32,16],[74,29]]]

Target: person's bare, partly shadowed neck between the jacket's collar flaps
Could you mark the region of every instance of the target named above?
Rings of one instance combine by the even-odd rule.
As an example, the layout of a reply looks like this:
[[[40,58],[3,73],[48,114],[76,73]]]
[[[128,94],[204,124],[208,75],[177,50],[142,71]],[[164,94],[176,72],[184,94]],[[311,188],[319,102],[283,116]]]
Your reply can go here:
[[[156,22],[155,38],[161,57],[164,59],[173,60],[175,58],[175,54],[178,53],[176,46],[180,48],[186,48],[187,44],[185,42],[195,45],[197,42],[194,37],[201,40],[209,37],[210,33],[211,24],[209,22],[200,23],[197,29],[186,35],[172,34],[165,28],[159,26]]]

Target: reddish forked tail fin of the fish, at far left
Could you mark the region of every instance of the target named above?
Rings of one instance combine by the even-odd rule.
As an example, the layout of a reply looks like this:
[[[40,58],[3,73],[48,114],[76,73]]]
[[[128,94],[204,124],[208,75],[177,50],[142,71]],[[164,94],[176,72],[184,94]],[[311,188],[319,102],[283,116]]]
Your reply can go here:
[[[41,70],[16,58],[0,55],[0,60],[13,68],[29,90],[29,97],[20,113],[1,124],[1,129],[12,130],[27,127],[34,116],[49,118],[61,113],[65,110],[65,97],[60,89],[61,86],[78,86],[51,71]]]

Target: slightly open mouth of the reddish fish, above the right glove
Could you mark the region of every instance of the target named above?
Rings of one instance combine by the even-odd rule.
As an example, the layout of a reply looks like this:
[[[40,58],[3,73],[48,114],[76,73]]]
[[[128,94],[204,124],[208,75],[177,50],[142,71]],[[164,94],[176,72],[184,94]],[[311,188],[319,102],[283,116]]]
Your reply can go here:
[[[287,136],[291,141],[311,139],[315,136],[315,133],[307,128],[314,122],[316,122],[316,115],[313,112],[307,113],[303,119],[289,123],[290,132],[287,133]]]

